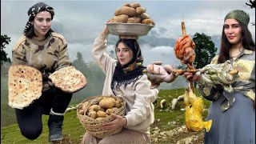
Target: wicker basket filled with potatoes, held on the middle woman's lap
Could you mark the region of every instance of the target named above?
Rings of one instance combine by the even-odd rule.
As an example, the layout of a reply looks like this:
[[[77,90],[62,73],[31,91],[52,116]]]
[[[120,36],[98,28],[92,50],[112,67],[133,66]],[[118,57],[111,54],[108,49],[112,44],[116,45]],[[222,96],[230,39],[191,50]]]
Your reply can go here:
[[[102,123],[113,121],[111,114],[124,116],[126,102],[122,97],[93,96],[86,98],[78,104],[77,115],[80,123],[86,131],[97,138],[118,134],[122,127],[117,130],[102,130]]]

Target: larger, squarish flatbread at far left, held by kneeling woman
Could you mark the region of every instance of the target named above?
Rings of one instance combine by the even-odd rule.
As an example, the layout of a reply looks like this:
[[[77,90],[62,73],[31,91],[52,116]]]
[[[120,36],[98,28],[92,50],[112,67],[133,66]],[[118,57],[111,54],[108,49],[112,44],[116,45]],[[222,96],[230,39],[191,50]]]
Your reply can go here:
[[[42,73],[31,66],[10,66],[8,91],[9,106],[22,110],[42,95]]]

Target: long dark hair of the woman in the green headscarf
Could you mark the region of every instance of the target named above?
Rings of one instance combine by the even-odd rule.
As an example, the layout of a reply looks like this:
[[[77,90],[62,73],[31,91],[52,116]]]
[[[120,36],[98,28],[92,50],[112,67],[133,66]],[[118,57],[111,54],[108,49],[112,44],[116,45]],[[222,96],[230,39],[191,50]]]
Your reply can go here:
[[[238,21],[239,22],[239,21]],[[252,38],[252,35],[250,34],[250,30],[248,30],[248,27],[242,23],[239,22],[239,25],[241,26],[241,34],[242,34],[242,46],[246,50],[255,50],[255,42]],[[222,27],[222,42],[221,42],[221,48],[220,48],[220,54],[218,57],[218,63],[224,63],[227,60],[230,59],[230,47],[231,43],[226,38],[226,35],[224,33],[224,25]]]

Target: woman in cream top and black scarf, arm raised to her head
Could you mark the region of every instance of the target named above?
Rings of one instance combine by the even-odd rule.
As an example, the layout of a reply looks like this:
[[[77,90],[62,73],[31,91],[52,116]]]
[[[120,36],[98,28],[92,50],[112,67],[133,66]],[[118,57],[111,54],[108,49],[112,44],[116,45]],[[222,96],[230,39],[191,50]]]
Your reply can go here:
[[[109,30],[104,30],[94,41],[92,54],[98,66],[106,74],[102,95],[122,95],[126,101],[124,117],[112,114],[114,120],[102,124],[103,130],[123,127],[119,134],[95,138],[86,133],[82,143],[150,143],[150,125],[154,122],[153,102],[158,90],[150,89],[151,82],[142,73],[143,58],[137,39],[120,38],[115,45],[117,60],[106,54],[106,38]]]

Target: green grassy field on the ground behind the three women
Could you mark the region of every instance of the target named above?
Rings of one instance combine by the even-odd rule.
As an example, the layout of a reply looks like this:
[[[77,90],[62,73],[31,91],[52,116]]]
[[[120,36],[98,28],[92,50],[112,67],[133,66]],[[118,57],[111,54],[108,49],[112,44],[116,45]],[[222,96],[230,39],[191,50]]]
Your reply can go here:
[[[183,102],[178,102],[175,110],[172,112],[166,111],[170,109],[170,102],[173,98],[178,98],[179,95],[184,94],[184,89],[178,90],[160,90],[158,94],[158,103],[155,107],[155,122],[151,126],[153,130],[154,127],[158,127],[161,131],[173,130],[177,126],[184,125],[184,114],[185,111],[181,109],[184,108]],[[198,95],[198,90],[195,90],[195,94]],[[161,110],[159,107],[159,102],[162,98],[166,99],[166,107]],[[207,109],[210,105],[209,101],[204,99],[204,105]],[[207,111],[203,112],[203,117],[206,118]],[[2,126],[1,128],[1,143],[10,144],[10,143],[49,143],[48,142],[48,127],[47,120],[48,116],[43,116],[43,131],[40,137],[34,141],[27,140],[22,136],[18,129],[17,124],[10,126]],[[175,121],[176,125],[170,126],[168,122]],[[151,131],[152,131],[151,130]],[[67,112],[65,115],[64,125],[63,125],[63,140],[61,143],[79,143],[81,142],[82,135],[85,134],[86,130],[82,127],[82,124],[79,122],[76,111]],[[154,142],[153,142],[154,143]],[[156,143],[170,143],[168,140],[162,140]]]

